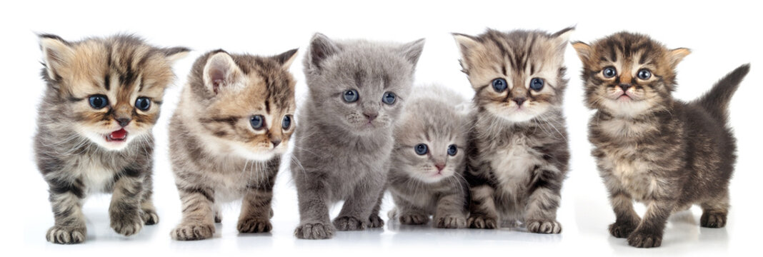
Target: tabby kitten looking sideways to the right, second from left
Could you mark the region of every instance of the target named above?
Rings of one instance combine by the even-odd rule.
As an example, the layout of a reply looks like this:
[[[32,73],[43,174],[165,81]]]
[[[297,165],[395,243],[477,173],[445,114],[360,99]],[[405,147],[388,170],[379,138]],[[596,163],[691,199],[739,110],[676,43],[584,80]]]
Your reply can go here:
[[[272,229],[272,190],[295,130],[297,50],[272,57],[216,50],[199,57],[169,124],[169,156],[182,201],[172,239],[214,235],[219,204],[243,198],[237,229]]]

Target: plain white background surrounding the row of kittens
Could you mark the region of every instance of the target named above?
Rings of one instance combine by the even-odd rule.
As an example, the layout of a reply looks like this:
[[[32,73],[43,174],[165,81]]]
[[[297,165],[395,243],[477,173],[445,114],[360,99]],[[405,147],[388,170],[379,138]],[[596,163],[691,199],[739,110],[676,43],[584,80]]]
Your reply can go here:
[[[761,8],[756,3],[723,1],[710,4],[668,1],[540,2],[4,2],[2,19],[2,255],[752,255],[759,249],[761,228],[758,127],[761,90]],[[339,232],[334,239],[298,240],[295,187],[288,171],[278,175],[272,233],[239,235],[239,204],[230,204],[213,239],[175,242],[169,231],[180,217],[179,198],[167,158],[167,120],[185,84],[191,63],[201,53],[223,48],[231,52],[272,55],[295,47],[304,50],[314,32],[333,38],[367,38],[407,42],[427,38],[418,64],[417,82],[437,82],[464,95],[473,94],[459,72],[451,32],[479,34],[486,27],[558,31],[577,25],[571,40],[590,42],[617,31],[650,34],[668,47],[688,47],[693,53],[678,66],[681,99],[696,98],[717,79],[743,63],[752,72],[731,104],[731,125],[739,138],[739,162],[731,182],[732,209],[723,229],[700,228],[700,210],[671,217],[662,247],[633,249],[614,239],[607,225],[614,220],[590,156],[587,122],[592,111],[582,104],[581,63],[568,47],[570,83],[565,98],[571,140],[571,171],[562,190],[560,235],[536,235],[512,230],[433,230],[391,224],[384,230]],[[34,165],[31,149],[37,105],[42,95],[40,50],[35,33],[58,34],[66,40],[118,32],[140,34],[150,43],[182,45],[194,52],[175,66],[178,80],[166,92],[156,128],[155,203],[160,223],[132,237],[114,233],[108,223],[108,195],[85,204],[86,243],[56,246],[44,234],[53,224],[47,185]],[[301,61],[291,67],[298,79],[298,98],[306,85]],[[720,124],[719,124],[720,126]],[[384,213],[391,207],[385,199]],[[333,209],[334,214],[339,207]],[[639,211],[643,207],[639,206]],[[385,216],[385,215],[384,215]],[[385,217],[386,219],[386,217]],[[8,255],[8,253],[10,255]],[[759,251],[758,251],[759,254]]]

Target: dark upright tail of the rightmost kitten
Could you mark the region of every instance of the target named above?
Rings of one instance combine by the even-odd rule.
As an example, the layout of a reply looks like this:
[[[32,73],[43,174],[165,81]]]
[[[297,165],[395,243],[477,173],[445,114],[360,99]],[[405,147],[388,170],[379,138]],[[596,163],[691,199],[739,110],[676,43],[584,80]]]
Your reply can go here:
[[[731,101],[732,95],[736,92],[736,88],[739,88],[739,83],[745,78],[745,75],[750,72],[750,64],[739,66],[734,71],[729,72],[723,79],[720,79],[713,85],[710,92],[705,93],[702,97],[694,101],[695,104],[699,104],[710,112],[713,117],[720,119],[724,123],[728,116],[729,101]]]

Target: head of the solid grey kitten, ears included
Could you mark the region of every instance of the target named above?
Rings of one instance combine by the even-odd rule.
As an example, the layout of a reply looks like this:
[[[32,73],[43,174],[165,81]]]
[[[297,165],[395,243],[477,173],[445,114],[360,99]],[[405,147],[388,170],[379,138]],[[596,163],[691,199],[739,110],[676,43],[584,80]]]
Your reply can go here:
[[[324,124],[370,134],[391,127],[410,91],[423,40],[401,46],[336,43],[316,34],[305,58],[310,97]]]

